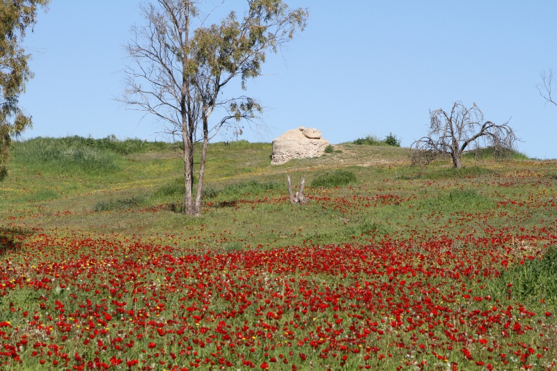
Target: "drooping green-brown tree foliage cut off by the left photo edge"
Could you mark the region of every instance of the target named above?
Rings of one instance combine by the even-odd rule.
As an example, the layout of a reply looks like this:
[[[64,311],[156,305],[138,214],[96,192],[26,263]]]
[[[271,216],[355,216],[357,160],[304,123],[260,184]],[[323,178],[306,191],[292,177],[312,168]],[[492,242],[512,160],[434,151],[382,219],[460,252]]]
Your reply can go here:
[[[31,116],[19,106],[19,95],[33,73],[29,70],[31,55],[22,42],[26,31],[36,24],[38,8],[49,0],[0,1],[0,180],[6,176],[8,146],[14,136],[31,127]]]

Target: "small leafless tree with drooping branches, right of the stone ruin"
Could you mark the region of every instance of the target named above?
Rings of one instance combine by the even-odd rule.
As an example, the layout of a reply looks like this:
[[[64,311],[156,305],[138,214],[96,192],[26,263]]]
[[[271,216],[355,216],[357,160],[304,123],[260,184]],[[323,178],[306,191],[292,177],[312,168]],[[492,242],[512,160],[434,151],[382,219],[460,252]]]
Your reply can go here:
[[[437,155],[450,155],[455,168],[462,167],[462,155],[469,150],[491,147],[502,153],[515,147],[517,137],[508,125],[484,121],[483,112],[476,106],[466,108],[462,102],[453,104],[450,114],[443,109],[430,111],[427,136],[412,143],[414,160],[429,163]]]

